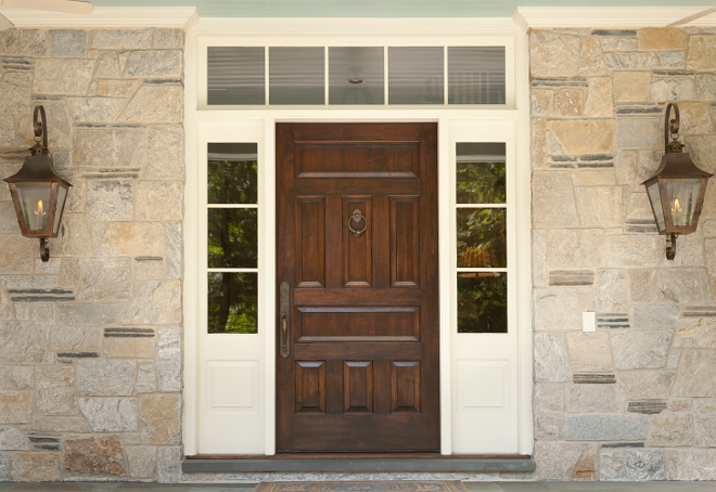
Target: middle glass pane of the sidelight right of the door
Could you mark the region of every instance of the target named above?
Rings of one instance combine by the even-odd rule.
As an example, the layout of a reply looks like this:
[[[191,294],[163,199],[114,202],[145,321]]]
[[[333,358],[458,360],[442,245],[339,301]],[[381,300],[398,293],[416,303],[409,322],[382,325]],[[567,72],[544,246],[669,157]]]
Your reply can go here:
[[[503,208],[458,208],[458,268],[506,268]]]

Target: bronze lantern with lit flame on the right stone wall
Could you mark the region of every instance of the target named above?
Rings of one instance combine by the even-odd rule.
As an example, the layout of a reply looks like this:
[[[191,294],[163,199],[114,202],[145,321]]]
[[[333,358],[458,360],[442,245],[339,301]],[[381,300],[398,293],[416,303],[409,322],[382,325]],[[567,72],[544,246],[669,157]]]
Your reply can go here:
[[[676,118],[669,121],[668,116],[674,107]],[[666,259],[676,256],[676,238],[679,234],[690,234],[699,225],[699,216],[704,203],[704,193],[709,174],[699,169],[679,138],[679,106],[670,103],[664,116],[664,145],[666,153],[656,176],[644,181],[651,208],[656,219],[659,233],[666,235]],[[674,139],[670,143],[668,135]]]

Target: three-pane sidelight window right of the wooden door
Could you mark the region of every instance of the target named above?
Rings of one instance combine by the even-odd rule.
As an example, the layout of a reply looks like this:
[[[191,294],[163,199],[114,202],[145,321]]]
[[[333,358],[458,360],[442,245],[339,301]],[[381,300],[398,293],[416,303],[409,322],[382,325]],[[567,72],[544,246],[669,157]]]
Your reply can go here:
[[[458,143],[458,333],[507,333],[504,143]]]

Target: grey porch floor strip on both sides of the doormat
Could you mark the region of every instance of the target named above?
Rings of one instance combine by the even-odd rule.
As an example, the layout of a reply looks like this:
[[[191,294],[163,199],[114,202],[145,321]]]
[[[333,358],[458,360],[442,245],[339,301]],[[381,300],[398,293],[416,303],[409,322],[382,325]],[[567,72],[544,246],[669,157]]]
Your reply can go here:
[[[463,482],[469,492],[716,492],[716,482]],[[251,492],[255,483],[0,483],[0,492]]]

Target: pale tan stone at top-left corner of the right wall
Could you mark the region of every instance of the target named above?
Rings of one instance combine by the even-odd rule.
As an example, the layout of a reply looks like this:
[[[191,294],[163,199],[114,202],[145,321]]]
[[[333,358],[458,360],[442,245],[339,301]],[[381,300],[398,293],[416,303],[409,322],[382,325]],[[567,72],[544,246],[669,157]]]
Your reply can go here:
[[[535,77],[575,76],[581,62],[580,39],[533,29],[529,55],[532,75]]]

